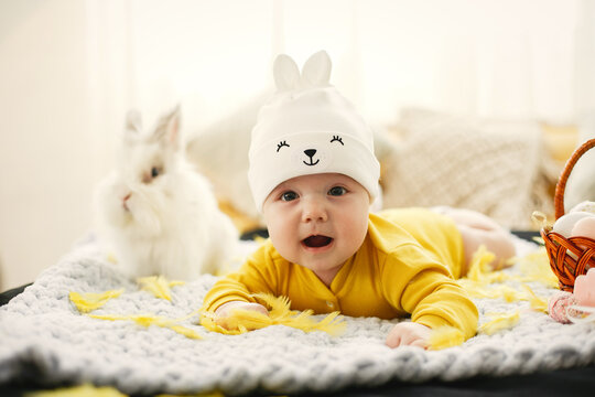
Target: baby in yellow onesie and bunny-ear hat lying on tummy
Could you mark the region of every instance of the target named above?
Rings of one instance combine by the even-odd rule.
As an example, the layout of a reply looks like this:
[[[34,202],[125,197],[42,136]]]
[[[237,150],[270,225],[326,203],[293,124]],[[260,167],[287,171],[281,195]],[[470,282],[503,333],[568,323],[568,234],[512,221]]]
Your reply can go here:
[[[495,265],[513,255],[495,222],[462,210],[370,213],[380,165],[372,133],[328,84],[331,60],[310,57],[300,74],[274,63],[275,96],[252,130],[248,176],[270,239],[206,294],[219,325],[235,309],[268,313],[252,294],[285,296],[293,310],[397,319],[387,345],[426,347],[432,329],[475,335],[478,313],[455,281],[484,244]]]

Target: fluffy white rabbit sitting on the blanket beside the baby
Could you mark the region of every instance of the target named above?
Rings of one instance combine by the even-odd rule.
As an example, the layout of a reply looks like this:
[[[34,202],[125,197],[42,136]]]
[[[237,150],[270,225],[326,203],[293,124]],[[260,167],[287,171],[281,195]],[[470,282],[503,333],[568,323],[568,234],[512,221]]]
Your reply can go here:
[[[184,157],[180,107],[152,133],[130,111],[116,170],[95,192],[100,243],[129,277],[193,280],[228,266],[238,230]]]

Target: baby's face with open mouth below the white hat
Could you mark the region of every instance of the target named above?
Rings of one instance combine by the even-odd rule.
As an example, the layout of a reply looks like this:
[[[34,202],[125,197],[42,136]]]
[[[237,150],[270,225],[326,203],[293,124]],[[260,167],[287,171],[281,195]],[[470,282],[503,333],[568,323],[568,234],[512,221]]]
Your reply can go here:
[[[279,254],[329,285],[364,243],[369,206],[368,192],[358,182],[339,173],[322,173],[281,183],[262,210]]]

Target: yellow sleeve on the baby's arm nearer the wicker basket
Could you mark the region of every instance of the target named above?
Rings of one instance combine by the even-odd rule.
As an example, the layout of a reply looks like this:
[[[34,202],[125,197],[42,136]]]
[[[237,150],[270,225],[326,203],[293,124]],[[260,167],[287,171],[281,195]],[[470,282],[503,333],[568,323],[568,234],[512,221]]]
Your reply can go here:
[[[405,245],[387,255],[382,285],[389,302],[410,313],[412,321],[431,329],[454,326],[465,339],[475,335],[477,308],[448,269],[424,255],[421,247]]]

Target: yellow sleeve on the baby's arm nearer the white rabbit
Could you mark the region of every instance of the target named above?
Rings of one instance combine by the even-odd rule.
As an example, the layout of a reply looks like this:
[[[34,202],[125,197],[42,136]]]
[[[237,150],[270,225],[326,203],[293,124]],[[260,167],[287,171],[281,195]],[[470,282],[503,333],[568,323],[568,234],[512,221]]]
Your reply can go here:
[[[241,268],[218,280],[206,293],[201,310],[215,311],[230,301],[257,302],[253,293],[277,294],[278,269],[270,255],[272,245],[267,243],[259,247]]]

